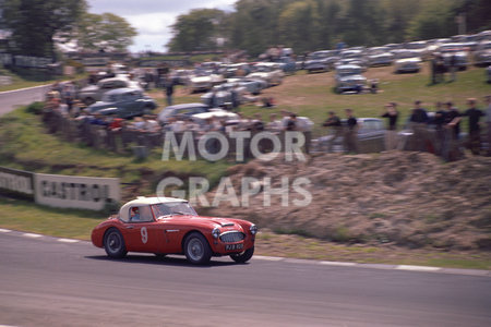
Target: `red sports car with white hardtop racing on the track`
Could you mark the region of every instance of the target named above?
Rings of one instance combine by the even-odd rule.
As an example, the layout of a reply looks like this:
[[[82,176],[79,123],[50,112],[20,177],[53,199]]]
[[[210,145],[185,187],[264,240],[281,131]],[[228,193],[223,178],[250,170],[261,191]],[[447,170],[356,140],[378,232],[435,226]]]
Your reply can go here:
[[[184,199],[137,197],[92,231],[92,243],[110,257],[128,252],[184,254],[192,264],[229,255],[237,263],[254,254],[258,227],[240,219],[201,217]]]

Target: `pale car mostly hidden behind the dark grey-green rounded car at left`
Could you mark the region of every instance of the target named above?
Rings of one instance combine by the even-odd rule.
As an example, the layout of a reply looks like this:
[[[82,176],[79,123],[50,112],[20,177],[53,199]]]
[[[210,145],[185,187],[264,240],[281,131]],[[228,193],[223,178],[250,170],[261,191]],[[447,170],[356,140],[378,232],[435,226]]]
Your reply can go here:
[[[77,98],[86,106],[89,106],[95,101],[100,100],[106,92],[123,87],[140,92],[143,90],[140,84],[135,81],[131,81],[125,77],[110,77],[100,80],[96,85],[88,85],[82,88],[77,94]]]

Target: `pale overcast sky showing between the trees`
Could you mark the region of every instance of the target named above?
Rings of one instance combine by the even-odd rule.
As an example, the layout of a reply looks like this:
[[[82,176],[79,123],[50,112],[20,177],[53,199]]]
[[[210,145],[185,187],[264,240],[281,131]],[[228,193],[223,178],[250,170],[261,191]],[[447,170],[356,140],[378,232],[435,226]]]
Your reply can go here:
[[[124,17],[139,33],[130,51],[166,51],[171,38],[169,26],[191,9],[216,8],[232,11],[237,0],[87,0],[88,12],[110,12]]]

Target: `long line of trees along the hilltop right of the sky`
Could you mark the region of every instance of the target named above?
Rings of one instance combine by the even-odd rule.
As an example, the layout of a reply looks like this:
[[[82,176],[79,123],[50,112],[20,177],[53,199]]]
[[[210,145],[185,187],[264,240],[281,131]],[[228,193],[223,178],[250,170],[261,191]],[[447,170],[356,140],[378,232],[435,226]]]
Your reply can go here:
[[[241,49],[251,56],[271,46],[296,53],[349,46],[443,38],[491,28],[489,0],[239,0],[232,12],[195,9],[171,25],[169,51]]]

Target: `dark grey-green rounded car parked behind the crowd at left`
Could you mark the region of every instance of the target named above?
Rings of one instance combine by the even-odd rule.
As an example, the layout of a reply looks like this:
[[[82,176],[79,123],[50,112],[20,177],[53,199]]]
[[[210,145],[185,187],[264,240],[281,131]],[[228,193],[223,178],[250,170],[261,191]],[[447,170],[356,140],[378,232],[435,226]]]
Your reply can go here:
[[[116,114],[119,118],[149,114],[157,104],[143,92],[134,88],[117,88],[107,92],[100,101],[87,107],[91,113]]]

